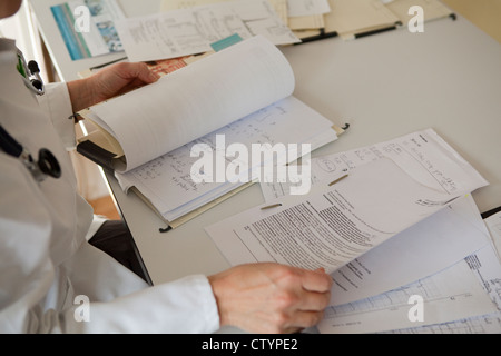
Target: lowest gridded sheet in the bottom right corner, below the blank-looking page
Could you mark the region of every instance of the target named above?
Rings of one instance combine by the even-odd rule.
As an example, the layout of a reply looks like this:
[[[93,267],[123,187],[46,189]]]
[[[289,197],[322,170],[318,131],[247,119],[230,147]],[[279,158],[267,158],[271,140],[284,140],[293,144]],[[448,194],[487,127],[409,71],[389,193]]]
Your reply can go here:
[[[501,269],[499,261],[495,264],[497,258],[492,253],[491,246],[487,246],[433,276],[377,296],[330,307],[326,309],[324,319],[317,326],[318,330],[322,334],[396,333],[416,326],[436,328],[439,324],[458,320],[473,323],[478,316],[495,318],[499,315],[500,306],[491,299],[492,293],[488,293],[492,289],[492,285],[483,287],[484,285],[479,283],[480,280],[475,276],[477,267],[469,261],[469,259],[473,259],[478,261],[477,266],[485,265],[482,273],[485,277],[491,277],[490,281],[498,280],[494,289],[499,288]],[[411,296],[422,297],[422,320],[413,322],[409,317],[411,308],[415,306],[415,301],[410,301],[412,300]],[[442,330],[446,332],[446,327],[443,327]],[[501,324],[494,324],[490,330],[500,333]],[[449,332],[453,333],[454,328],[450,328]]]

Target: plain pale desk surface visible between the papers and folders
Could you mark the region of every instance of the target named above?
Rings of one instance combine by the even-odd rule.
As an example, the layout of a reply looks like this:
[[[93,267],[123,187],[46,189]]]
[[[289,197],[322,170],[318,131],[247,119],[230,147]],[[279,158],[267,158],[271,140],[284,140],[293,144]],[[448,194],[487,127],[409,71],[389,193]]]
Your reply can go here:
[[[32,0],[65,80],[122,55],[71,61],[49,11],[61,0]],[[159,0],[121,0],[127,16],[147,14]],[[425,23],[424,33],[399,29],[282,48],[295,76],[295,96],[342,126],[340,139],[313,154],[344,151],[433,128],[490,182],[473,192],[480,211],[501,205],[501,44],[462,17]],[[136,196],[109,184],[154,284],[229,267],[204,227],[264,202],[254,185],[188,224],[160,234],[163,221]]]

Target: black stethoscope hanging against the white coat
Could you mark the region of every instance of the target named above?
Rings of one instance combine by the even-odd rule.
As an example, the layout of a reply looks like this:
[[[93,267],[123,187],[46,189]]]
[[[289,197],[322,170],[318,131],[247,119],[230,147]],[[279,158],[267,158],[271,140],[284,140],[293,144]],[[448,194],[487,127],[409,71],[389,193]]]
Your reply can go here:
[[[28,65],[21,51],[18,50],[18,71],[21,73],[27,87],[35,93],[45,93],[43,81],[40,78],[40,69],[36,61]],[[35,160],[26,147],[22,147],[9,132],[0,125],[0,148],[8,155],[18,158],[33,176],[35,180],[42,182],[47,177],[61,177],[61,167],[57,158],[47,148],[38,151],[38,160]]]

